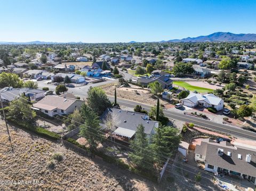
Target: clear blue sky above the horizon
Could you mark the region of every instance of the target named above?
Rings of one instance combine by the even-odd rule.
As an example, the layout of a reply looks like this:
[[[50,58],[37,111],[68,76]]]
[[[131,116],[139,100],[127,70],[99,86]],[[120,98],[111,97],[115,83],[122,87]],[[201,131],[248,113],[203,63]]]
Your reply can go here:
[[[0,0],[0,41],[159,41],[256,33],[254,0]]]

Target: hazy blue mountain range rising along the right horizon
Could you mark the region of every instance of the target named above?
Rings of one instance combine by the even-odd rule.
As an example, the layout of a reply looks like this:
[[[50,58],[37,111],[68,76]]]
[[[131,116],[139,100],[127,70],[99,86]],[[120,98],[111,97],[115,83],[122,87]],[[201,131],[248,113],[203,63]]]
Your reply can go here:
[[[188,37],[182,39],[162,40],[159,43],[179,43],[179,42],[205,42],[205,41],[256,41],[256,34],[233,34],[231,32],[214,32],[211,35]],[[130,43],[135,43],[131,41]]]

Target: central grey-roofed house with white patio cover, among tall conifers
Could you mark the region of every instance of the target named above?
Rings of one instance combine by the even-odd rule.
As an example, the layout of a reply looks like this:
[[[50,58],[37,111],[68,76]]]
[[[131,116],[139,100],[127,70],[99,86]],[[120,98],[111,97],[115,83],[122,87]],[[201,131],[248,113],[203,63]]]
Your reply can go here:
[[[134,138],[139,124],[145,127],[145,134],[148,138],[155,134],[155,128],[158,128],[158,121],[152,121],[145,113],[124,111],[120,109],[108,108],[101,116],[102,129],[107,130],[108,124],[113,124],[112,136],[130,140]],[[111,122],[110,122],[111,121]]]

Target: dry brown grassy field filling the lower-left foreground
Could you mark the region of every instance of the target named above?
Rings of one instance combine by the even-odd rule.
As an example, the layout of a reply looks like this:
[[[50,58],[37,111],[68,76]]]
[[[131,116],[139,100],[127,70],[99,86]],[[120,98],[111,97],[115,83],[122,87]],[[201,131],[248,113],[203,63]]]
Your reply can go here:
[[[166,175],[161,184],[134,175],[128,170],[99,159],[90,159],[67,150],[61,143],[10,127],[14,151],[10,149],[6,128],[0,121],[1,180],[23,181],[23,184],[0,185],[0,190],[197,190],[179,177]],[[60,153],[62,161],[53,159]],[[49,168],[53,161],[55,167]],[[170,177],[169,177],[170,178]],[[30,184],[28,181],[42,181]],[[27,181],[27,183],[25,182]]]

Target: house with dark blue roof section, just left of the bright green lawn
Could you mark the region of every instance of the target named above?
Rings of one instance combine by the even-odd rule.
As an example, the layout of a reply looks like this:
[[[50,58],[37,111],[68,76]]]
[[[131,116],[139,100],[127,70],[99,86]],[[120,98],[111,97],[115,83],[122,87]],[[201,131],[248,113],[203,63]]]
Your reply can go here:
[[[166,76],[159,76],[155,78],[137,78],[137,84],[142,86],[148,86],[155,81],[158,81],[162,85],[163,89],[172,88],[172,80]]]

